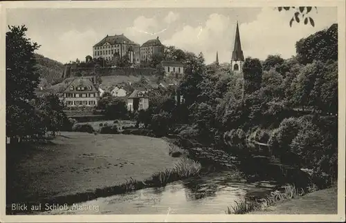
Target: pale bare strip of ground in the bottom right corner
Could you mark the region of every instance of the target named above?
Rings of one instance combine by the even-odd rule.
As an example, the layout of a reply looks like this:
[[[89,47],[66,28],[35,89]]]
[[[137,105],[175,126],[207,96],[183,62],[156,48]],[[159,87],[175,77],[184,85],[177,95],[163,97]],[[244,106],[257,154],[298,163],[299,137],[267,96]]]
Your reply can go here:
[[[296,214],[321,214],[328,215],[338,213],[338,190],[336,187],[316,191],[299,197],[298,199],[289,200],[268,207],[263,211],[254,211],[252,215],[296,215]]]

